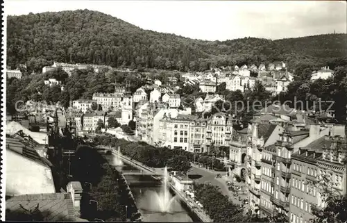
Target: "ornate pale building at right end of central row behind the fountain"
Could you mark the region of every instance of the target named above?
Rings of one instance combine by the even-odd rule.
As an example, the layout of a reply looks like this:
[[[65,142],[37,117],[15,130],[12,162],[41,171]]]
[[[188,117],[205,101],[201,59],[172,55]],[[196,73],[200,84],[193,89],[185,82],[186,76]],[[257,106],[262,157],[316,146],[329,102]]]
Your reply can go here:
[[[216,113],[208,119],[205,142],[208,151],[210,151],[212,145],[220,147],[229,144],[234,121],[235,119],[232,119],[226,113]]]

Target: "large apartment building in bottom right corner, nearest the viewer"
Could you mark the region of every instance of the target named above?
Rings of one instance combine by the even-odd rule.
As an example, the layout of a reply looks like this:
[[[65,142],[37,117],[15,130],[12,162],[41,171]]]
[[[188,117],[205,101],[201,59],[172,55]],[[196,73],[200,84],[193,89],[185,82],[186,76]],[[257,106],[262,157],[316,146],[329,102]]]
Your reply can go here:
[[[319,138],[293,154],[290,222],[310,222],[327,195],[346,195],[346,138]]]

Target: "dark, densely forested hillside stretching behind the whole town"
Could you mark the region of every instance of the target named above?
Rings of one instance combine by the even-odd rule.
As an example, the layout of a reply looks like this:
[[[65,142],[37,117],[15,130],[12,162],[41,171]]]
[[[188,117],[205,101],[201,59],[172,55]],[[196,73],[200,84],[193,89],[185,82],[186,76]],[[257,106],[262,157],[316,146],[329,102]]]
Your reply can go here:
[[[53,61],[186,71],[274,60],[325,65],[346,56],[346,34],[211,42],[146,31],[91,10],[8,16],[7,21],[7,63],[26,64],[28,72]]]

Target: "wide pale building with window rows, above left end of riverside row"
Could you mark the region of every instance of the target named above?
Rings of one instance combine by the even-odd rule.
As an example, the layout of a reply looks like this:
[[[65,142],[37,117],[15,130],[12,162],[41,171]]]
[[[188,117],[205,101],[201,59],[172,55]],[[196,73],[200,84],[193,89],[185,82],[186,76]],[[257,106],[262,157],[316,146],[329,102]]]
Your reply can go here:
[[[92,99],[101,105],[103,110],[120,108],[123,93],[94,93]]]

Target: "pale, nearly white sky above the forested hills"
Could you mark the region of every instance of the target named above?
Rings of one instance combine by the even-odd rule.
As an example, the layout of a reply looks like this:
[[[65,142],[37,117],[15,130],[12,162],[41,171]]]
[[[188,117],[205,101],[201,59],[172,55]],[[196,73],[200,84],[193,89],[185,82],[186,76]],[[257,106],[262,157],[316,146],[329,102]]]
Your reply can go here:
[[[140,28],[201,40],[347,33],[345,1],[8,0],[6,15],[97,10]]]

